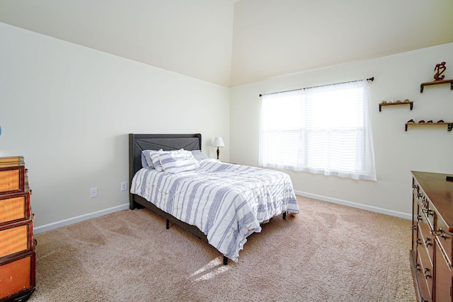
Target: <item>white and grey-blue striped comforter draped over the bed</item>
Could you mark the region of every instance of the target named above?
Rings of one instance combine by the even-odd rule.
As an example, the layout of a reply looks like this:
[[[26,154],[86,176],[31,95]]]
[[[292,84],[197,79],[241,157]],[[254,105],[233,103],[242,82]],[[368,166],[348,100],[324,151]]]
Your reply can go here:
[[[142,168],[132,194],[193,226],[226,257],[238,261],[247,236],[282,211],[299,213],[289,175],[246,165],[200,161],[200,168],[177,174]]]

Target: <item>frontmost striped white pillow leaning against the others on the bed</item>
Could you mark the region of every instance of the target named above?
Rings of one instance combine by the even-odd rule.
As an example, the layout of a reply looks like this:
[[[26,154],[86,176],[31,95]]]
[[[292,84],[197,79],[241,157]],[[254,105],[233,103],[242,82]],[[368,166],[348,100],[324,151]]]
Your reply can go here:
[[[176,151],[159,150],[159,159],[165,174],[180,173],[200,168],[200,164],[192,153],[183,149]]]

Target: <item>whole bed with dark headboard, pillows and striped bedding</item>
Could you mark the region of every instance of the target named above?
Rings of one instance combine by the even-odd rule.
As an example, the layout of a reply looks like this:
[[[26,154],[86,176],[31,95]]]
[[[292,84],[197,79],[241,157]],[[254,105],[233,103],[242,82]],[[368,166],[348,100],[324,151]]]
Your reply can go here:
[[[224,265],[238,262],[247,236],[259,233],[261,223],[299,213],[292,182],[279,171],[199,158],[201,146],[201,134],[129,134],[130,209],[150,209],[166,219],[167,229],[175,223],[206,240],[222,253]],[[164,167],[147,165],[150,150],[160,151]],[[192,158],[189,152],[195,168],[183,172],[172,172],[163,159],[180,153]]]

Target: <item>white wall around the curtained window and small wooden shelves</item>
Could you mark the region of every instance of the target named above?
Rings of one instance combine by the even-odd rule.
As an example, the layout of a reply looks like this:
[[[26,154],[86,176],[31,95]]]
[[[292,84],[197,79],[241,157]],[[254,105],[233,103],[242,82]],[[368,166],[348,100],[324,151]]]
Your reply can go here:
[[[453,122],[453,91],[449,84],[427,86],[420,93],[420,83],[433,81],[435,64],[442,61],[447,62],[446,79],[453,79],[453,43],[449,43],[234,87],[230,160],[258,165],[260,93],[374,76],[369,86],[377,182],[286,172],[299,192],[407,216],[411,213],[411,170],[453,174],[453,132],[448,132],[445,125],[409,127],[404,131],[404,124],[411,119]],[[379,112],[382,100],[406,98],[414,101],[413,110],[408,105],[399,105],[384,107]]]

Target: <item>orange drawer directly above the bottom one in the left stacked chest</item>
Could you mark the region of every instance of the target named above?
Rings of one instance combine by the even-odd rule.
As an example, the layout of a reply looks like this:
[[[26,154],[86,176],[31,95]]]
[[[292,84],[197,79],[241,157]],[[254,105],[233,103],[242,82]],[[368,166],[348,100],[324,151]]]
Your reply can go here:
[[[0,228],[1,257],[33,250],[33,221],[11,223]]]

